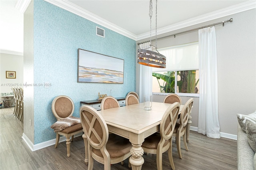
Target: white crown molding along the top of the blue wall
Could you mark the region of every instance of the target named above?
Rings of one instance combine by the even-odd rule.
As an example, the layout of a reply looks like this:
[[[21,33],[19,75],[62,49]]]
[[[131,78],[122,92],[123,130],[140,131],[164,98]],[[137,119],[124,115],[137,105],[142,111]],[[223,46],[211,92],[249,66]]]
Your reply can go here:
[[[131,38],[133,40],[136,40],[136,35],[132,32],[129,32],[125,30],[124,28],[121,28],[120,26],[117,26],[113,24],[112,22],[109,22],[83,8],[80,6],[77,6],[73,4],[72,2],[69,2],[67,0],[44,0],[46,2],[49,2],[50,4],[53,4],[55,6],[58,6],[64,10],[67,10],[69,12],[72,12],[73,14],[76,14],[78,16],[81,16],[82,18],[85,18],[86,20],[92,21],[96,24],[99,24],[100,26],[104,26],[105,28],[108,28],[114,32],[117,32],[119,34],[122,34],[123,36],[126,36],[128,38]]]

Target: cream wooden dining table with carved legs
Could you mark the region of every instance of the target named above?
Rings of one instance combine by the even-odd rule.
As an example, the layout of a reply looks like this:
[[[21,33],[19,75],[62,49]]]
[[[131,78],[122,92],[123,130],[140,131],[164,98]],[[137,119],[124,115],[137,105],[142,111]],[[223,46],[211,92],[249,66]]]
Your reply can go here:
[[[132,170],[141,170],[144,163],[141,145],[146,137],[159,131],[162,116],[170,106],[172,104],[152,102],[151,110],[144,110],[144,104],[139,103],[98,111],[106,121],[109,132],[128,138],[132,143],[132,156],[129,159]],[[180,106],[180,111],[182,107],[183,105]],[[88,164],[87,153],[85,157]]]

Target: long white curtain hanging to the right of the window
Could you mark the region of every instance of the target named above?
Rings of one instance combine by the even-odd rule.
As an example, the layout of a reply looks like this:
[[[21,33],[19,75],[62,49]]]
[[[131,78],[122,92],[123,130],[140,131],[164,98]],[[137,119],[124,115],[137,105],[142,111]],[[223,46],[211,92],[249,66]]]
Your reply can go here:
[[[218,120],[218,77],[215,28],[198,31],[199,45],[199,114],[198,133],[220,138]]]

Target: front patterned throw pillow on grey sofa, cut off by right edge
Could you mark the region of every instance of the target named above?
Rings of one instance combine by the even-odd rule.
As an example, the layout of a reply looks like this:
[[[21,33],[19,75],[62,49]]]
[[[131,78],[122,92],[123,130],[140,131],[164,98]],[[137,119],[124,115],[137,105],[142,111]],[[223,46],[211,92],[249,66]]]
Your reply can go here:
[[[246,134],[252,150],[256,152],[256,124],[249,122],[246,125]]]

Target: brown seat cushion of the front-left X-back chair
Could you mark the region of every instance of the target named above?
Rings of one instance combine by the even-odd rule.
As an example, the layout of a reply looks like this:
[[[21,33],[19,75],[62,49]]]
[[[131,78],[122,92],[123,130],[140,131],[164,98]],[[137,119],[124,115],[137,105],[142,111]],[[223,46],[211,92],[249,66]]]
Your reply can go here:
[[[129,153],[131,148],[132,144],[128,139],[116,134],[109,134],[106,149],[110,154],[111,159],[118,158]],[[100,157],[103,157],[102,153],[98,149],[92,148],[92,152]]]

